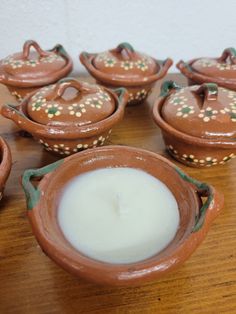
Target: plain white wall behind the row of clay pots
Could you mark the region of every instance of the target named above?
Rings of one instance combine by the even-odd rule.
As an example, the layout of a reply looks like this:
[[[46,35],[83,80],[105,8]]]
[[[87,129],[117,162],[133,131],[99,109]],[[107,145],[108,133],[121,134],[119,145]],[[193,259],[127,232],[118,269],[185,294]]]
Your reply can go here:
[[[159,59],[177,62],[218,56],[236,46],[235,0],[0,0],[0,58],[26,39],[56,43],[83,70],[77,55],[128,41]],[[175,67],[172,67],[175,71]]]

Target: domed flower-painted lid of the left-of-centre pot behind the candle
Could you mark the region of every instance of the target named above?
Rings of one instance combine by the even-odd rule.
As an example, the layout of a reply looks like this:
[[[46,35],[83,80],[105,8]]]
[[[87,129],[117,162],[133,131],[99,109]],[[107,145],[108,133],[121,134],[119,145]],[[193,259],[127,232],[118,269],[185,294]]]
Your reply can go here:
[[[115,109],[115,99],[107,89],[72,78],[39,89],[27,103],[33,121],[54,126],[91,124],[109,117]]]

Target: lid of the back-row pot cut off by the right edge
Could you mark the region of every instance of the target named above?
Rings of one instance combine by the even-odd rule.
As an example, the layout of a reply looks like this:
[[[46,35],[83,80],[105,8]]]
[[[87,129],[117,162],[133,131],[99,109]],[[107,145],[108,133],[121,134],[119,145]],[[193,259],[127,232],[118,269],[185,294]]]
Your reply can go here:
[[[227,48],[219,58],[199,58],[191,63],[191,68],[206,76],[235,79],[236,50]]]

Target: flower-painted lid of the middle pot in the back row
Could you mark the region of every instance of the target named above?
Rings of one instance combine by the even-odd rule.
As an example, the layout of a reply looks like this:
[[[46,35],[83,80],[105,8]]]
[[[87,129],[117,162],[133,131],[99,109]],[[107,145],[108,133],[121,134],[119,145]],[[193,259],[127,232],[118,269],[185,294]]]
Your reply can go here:
[[[115,78],[142,80],[160,70],[157,60],[135,51],[129,43],[121,43],[115,49],[96,54],[93,66]]]

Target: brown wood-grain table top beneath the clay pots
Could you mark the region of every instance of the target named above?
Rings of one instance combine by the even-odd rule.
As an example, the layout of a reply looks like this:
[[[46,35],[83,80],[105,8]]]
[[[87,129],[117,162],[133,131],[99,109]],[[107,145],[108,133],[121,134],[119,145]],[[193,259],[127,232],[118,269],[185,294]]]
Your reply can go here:
[[[169,75],[185,82],[180,75]],[[109,144],[125,144],[166,155],[148,102],[127,108]],[[14,102],[0,86],[0,101]],[[52,262],[38,246],[26,215],[19,177],[27,168],[56,160],[31,138],[19,136],[4,118],[1,135],[8,141],[13,167],[0,208],[0,313],[236,313],[236,160],[188,174],[214,185],[225,206],[198,250],[179,270],[162,280],[130,288],[101,287],[79,280]],[[168,157],[169,158],[169,157]]]

